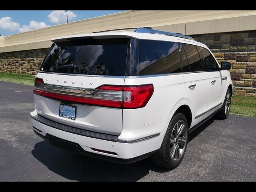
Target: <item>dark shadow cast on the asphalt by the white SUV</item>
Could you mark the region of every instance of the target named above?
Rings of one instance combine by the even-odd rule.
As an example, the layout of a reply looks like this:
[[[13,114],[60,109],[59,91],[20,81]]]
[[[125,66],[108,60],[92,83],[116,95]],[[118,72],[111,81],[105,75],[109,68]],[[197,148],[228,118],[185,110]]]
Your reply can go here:
[[[189,135],[188,142],[213,122],[214,119],[210,119],[194,130]],[[150,158],[128,165],[114,164],[62,150],[47,141],[35,144],[32,155],[52,172],[76,181],[137,181],[148,175],[150,171],[160,173],[171,171],[156,166]]]

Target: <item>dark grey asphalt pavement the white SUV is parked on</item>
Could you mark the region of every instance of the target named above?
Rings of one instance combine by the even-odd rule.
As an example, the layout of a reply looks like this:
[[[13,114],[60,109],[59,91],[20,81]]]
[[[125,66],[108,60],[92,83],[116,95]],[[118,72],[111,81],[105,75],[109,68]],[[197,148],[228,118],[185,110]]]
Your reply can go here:
[[[174,170],[150,158],[120,165],[67,152],[34,134],[32,89],[0,82],[0,181],[256,181],[256,118],[208,120],[189,135]]]

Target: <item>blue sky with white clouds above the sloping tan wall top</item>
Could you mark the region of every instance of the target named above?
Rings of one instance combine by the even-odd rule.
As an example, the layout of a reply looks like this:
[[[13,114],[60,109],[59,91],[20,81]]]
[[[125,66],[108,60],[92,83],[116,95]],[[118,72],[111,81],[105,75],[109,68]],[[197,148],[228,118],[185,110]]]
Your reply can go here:
[[[124,10],[68,11],[68,22],[93,18]],[[2,36],[66,23],[66,11],[0,11]]]

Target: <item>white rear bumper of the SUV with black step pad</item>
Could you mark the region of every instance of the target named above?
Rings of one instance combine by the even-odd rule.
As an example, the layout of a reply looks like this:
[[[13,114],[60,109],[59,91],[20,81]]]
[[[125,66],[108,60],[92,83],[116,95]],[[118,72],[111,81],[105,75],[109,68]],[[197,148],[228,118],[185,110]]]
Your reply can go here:
[[[85,132],[78,130],[79,132],[74,133],[70,130],[61,130],[55,124],[56,122],[51,124],[42,123],[42,120],[40,122],[35,117],[31,117],[34,132],[48,140],[50,144],[115,163],[129,164],[147,158],[159,149],[158,143],[161,140],[159,134],[154,134],[152,137],[142,140],[134,140],[134,142],[130,142],[130,140],[124,142],[124,140],[118,140],[118,136],[111,137],[111,135],[100,133],[98,133],[100,138],[96,138],[95,132],[92,134],[85,130]],[[69,128],[72,129],[72,127]],[[88,136],[83,134],[88,134]],[[101,152],[102,150],[108,153]]]

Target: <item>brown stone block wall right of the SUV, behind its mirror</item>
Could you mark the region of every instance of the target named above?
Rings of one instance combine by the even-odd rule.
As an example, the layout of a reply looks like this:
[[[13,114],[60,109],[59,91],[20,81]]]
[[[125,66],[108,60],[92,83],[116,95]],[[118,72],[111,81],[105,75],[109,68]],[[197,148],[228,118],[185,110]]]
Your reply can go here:
[[[210,48],[219,63],[232,64],[234,94],[256,96],[256,30],[192,36]]]

